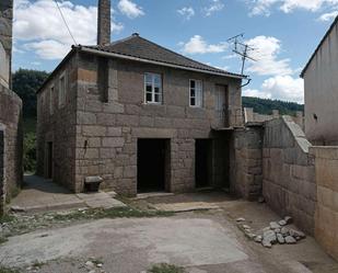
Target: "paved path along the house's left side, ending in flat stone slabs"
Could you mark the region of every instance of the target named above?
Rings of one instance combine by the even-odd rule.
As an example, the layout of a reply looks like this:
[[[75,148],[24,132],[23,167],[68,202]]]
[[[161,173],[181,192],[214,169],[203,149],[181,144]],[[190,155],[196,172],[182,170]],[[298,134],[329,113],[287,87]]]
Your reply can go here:
[[[100,192],[73,194],[51,180],[36,175],[24,177],[24,187],[11,202],[15,211],[46,212],[79,207],[117,207],[124,204],[112,197],[112,194]]]

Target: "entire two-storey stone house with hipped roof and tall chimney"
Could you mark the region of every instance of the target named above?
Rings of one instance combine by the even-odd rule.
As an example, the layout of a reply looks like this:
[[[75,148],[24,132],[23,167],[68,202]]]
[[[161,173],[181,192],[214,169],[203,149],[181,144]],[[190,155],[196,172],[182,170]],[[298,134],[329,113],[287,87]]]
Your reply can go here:
[[[74,192],[92,177],[127,195],[231,187],[245,77],[138,34],[109,43],[109,10],[97,46],[73,46],[37,92],[38,174]]]

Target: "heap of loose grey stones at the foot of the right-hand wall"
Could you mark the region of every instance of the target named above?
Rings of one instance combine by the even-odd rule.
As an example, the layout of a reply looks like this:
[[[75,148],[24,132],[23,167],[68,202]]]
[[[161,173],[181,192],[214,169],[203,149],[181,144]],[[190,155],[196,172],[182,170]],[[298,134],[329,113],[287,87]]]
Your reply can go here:
[[[306,237],[304,232],[288,227],[288,225],[292,224],[292,217],[290,216],[285,216],[279,221],[271,221],[268,227],[263,228],[258,232],[252,230],[252,227],[246,224],[245,218],[237,218],[236,223],[248,239],[261,243],[265,248],[271,248],[276,243],[293,244]]]

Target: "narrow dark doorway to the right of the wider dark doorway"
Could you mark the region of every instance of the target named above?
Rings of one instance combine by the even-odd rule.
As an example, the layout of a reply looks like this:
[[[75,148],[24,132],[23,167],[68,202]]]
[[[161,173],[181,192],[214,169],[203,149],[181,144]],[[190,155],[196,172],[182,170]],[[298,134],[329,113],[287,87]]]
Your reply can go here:
[[[196,187],[211,184],[211,140],[196,139],[195,143],[195,181]]]

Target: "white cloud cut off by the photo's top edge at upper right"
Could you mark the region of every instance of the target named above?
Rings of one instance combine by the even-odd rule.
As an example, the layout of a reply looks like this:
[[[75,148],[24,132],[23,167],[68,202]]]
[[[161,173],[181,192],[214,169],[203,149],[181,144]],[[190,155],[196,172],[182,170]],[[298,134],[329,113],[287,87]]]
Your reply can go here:
[[[269,16],[272,8],[278,8],[284,13],[301,9],[311,12],[319,11],[322,8],[331,8],[338,0],[247,0],[250,5],[250,15]]]

